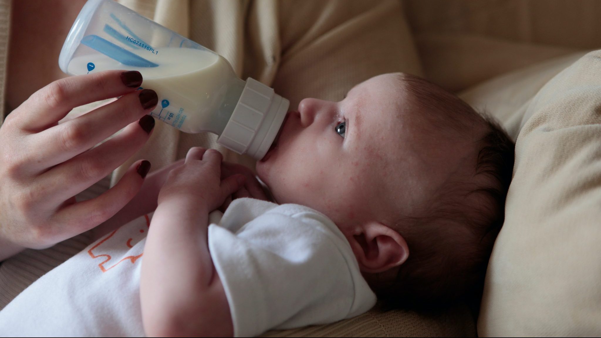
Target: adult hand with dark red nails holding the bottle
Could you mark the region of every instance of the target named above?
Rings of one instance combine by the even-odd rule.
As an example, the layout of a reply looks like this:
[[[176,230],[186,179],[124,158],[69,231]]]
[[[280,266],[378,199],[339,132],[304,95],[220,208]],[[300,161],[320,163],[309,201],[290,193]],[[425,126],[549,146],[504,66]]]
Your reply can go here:
[[[139,72],[72,76],[41,88],[8,115],[0,128],[0,260],[22,248],[50,247],[85,232],[138,192],[148,161],[134,163],[99,197],[78,203],[74,197],[148,140],[154,120],[145,115],[158,99],[153,90],[136,90],[141,84]],[[76,106],[118,96],[58,124]]]

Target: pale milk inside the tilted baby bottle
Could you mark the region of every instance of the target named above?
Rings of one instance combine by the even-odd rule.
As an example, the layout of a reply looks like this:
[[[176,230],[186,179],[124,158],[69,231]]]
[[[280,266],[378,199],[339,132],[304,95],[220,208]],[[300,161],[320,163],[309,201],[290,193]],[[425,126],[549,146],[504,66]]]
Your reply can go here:
[[[143,88],[159,96],[151,115],[183,132],[220,135],[245,86],[230,64],[218,54],[191,48],[163,48],[153,61],[160,67],[127,66],[142,74]],[[89,63],[95,72],[123,68],[106,55],[93,54],[73,58],[68,70],[77,73]]]

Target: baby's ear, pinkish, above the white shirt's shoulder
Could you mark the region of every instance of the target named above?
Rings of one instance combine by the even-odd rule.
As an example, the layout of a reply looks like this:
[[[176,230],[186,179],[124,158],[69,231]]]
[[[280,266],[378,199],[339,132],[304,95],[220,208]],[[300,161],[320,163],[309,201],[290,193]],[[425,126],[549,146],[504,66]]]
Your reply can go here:
[[[403,236],[379,222],[366,223],[361,233],[347,235],[362,272],[374,274],[403,264],[409,247]]]

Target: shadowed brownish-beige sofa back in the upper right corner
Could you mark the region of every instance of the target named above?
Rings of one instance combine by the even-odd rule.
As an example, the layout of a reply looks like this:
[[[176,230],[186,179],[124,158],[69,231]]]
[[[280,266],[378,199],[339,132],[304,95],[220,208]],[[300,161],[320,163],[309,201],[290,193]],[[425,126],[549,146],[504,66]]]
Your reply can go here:
[[[597,0],[403,0],[427,78],[448,90],[601,48]]]

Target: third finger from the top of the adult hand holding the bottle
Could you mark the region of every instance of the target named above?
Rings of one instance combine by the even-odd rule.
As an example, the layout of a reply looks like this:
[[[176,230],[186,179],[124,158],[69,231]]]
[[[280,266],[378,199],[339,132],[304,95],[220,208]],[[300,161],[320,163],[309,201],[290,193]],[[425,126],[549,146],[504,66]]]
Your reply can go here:
[[[88,188],[130,158],[150,137],[142,121],[154,123],[150,116],[130,123],[120,134],[63,164],[56,165],[38,177],[40,188],[54,191],[64,200]],[[47,193],[47,192],[46,192]]]

